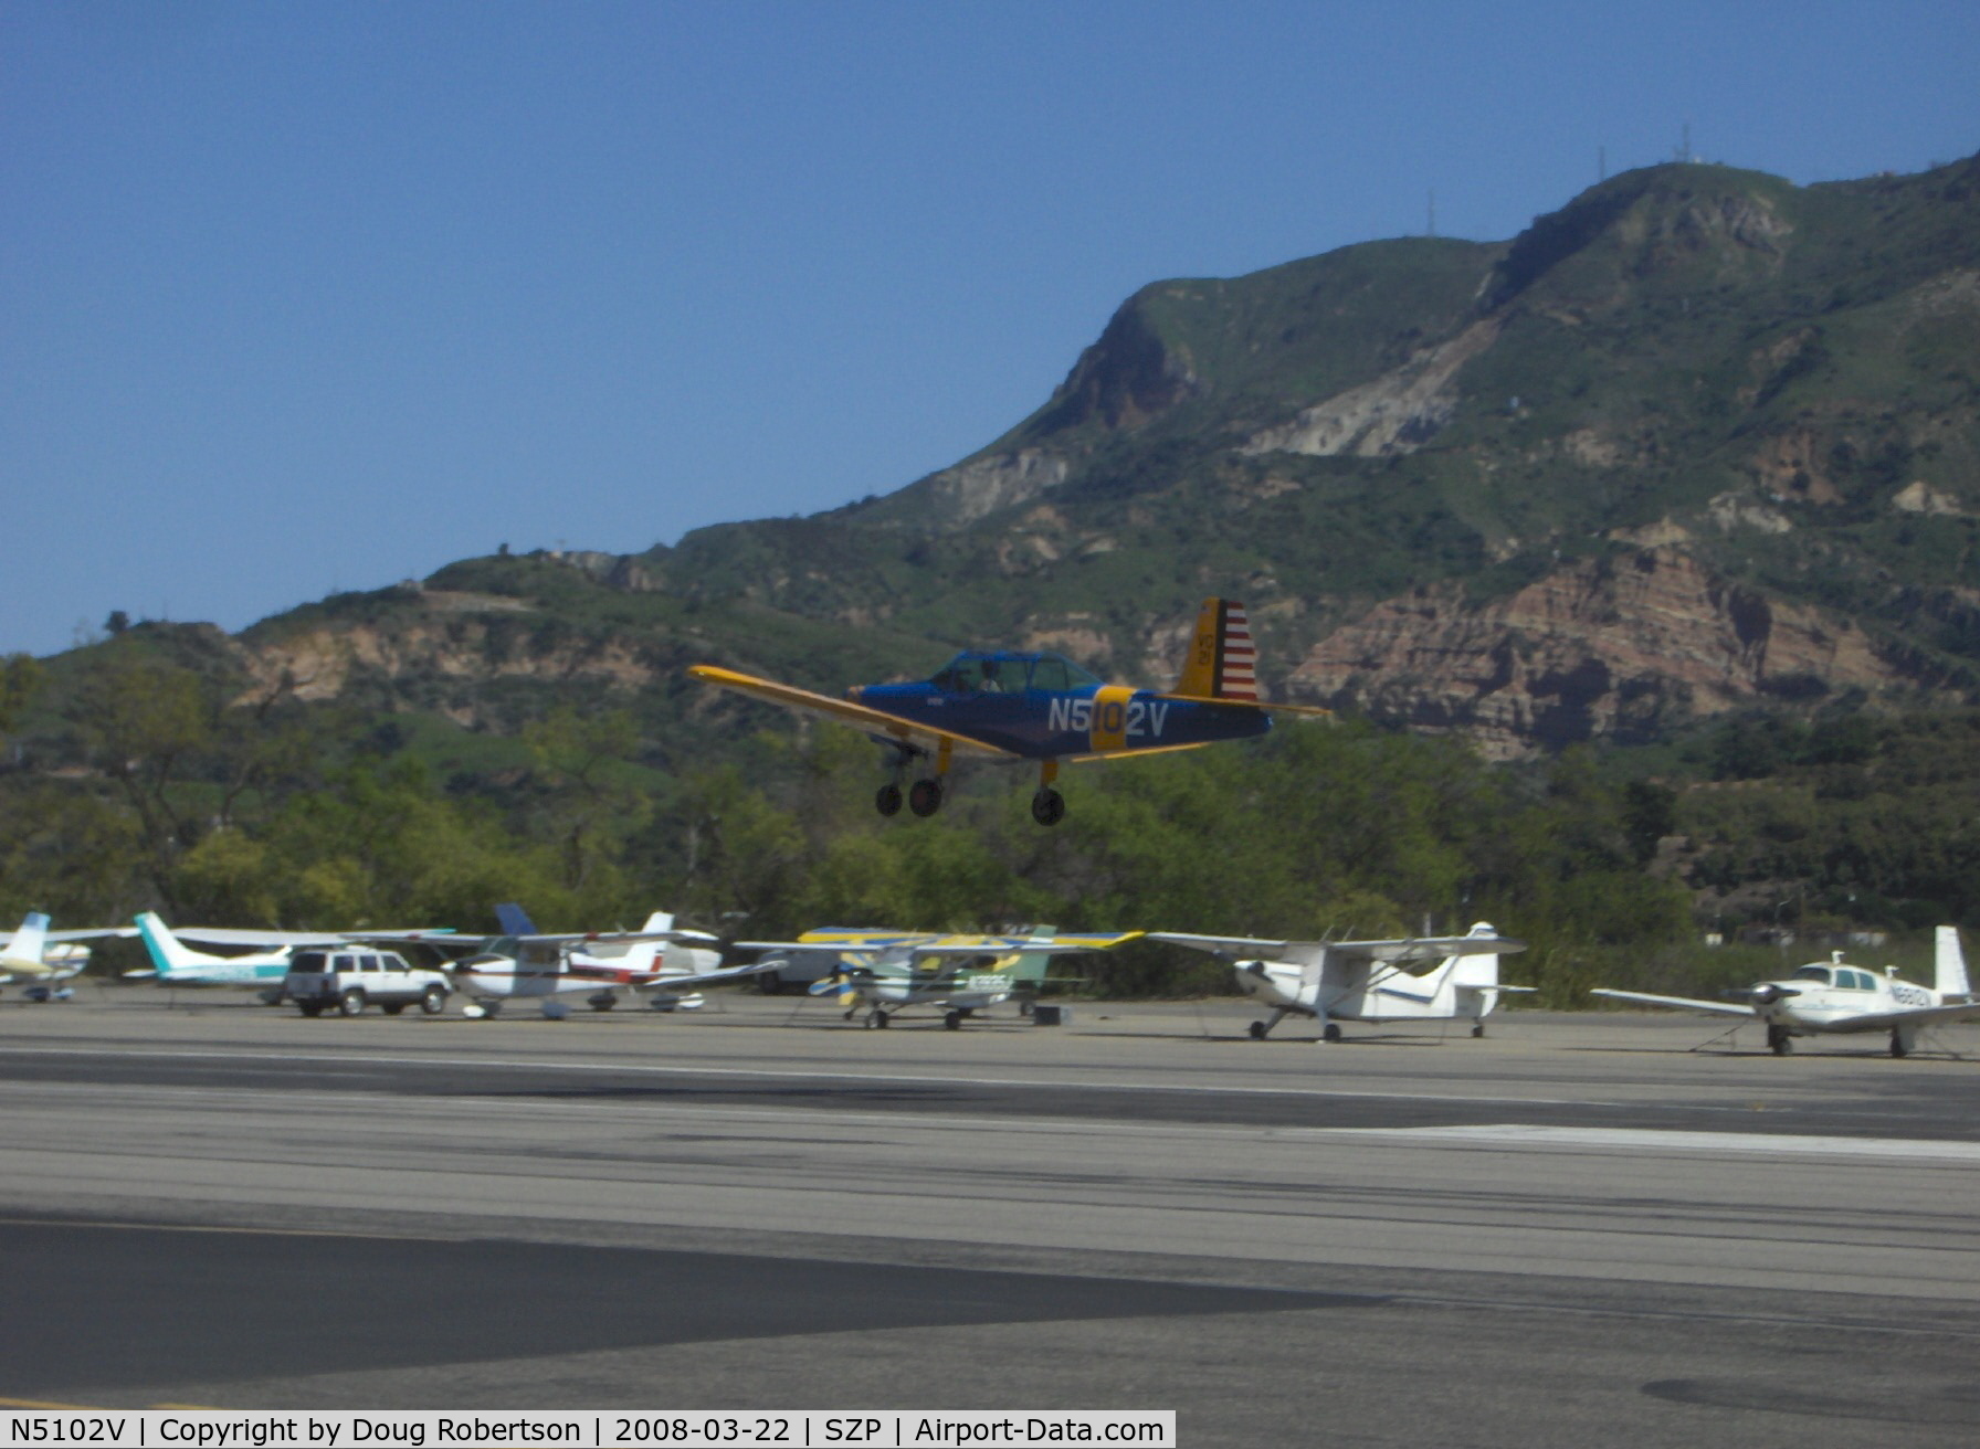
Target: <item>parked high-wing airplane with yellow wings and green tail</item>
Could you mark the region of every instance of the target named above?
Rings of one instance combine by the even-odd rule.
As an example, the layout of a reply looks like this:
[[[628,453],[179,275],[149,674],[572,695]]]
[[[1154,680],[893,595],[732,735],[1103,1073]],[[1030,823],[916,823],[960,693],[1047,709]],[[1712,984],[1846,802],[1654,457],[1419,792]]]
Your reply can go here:
[[[1024,936],[873,932],[869,940],[847,942],[840,950],[840,968],[814,982],[810,994],[836,996],[847,1021],[865,1008],[869,1027],[885,1027],[911,1006],[933,1006],[942,1012],[942,1025],[956,1031],[970,1015],[1000,1002],[1034,1000],[1053,956],[1107,950],[1138,934],[1061,936],[1051,926],[1034,926]],[[796,944],[800,942],[737,942],[739,948],[752,950],[788,950]],[[804,944],[816,950],[816,944]]]

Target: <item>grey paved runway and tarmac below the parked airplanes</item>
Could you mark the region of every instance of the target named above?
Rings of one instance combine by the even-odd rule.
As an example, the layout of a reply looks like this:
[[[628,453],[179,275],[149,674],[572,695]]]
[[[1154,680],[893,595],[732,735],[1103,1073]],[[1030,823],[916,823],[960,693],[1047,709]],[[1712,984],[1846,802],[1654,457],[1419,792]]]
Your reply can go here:
[[[180,998],[184,1000],[184,998]],[[1968,1445],[1980,1029],[0,1002],[0,1394]]]

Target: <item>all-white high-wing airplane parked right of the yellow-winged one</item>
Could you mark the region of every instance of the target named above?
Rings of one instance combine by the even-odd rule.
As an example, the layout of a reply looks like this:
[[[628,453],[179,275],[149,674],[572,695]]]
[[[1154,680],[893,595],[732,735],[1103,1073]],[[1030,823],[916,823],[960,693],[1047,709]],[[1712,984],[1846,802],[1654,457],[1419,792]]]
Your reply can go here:
[[[1271,1008],[1251,1023],[1263,1041],[1287,1015],[1311,1015],[1321,1041],[1340,1039],[1340,1021],[1449,1021],[1471,1017],[1471,1035],[1485,1035],[1485,1017],[1505,992],[1499,958],[1525,950],[1525,940],[1501,936],[1479,920],[1463,936],[1400,940],[1253,940],[1249,936],[1186,936],[1150,930],[1148,940],[1194,946],[1232,962],[1238,988]],[[1436,964],[1434,970],[1424,970]]]

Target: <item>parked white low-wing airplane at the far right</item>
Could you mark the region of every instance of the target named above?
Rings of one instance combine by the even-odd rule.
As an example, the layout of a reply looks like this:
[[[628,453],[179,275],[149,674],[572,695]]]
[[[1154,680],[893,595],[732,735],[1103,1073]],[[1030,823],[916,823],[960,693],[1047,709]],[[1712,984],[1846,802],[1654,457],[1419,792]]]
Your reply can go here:
[[[1794,1037],[1830,1031],[1889,1031],[1891,1055],[1907,1057],[1919,1045],[1919,1027],[1938,1021],[1980,1021],[1980,1002],[1966,984],[1966,956],[1956,926],[1940,926],[1932,950],[1932,984],[1913,986],[1887,966],[1883,976],[1849,966],[1843,954],[1810,962],[1778,982],[1760,982],[1746,1002],[1699,1002],[1689,996],[1653,996],[1596,988],[1592,996],[1687,1012],[1736,1015],[1766,1025],[1766,1045],[1776,1057],[1794,1051]]]

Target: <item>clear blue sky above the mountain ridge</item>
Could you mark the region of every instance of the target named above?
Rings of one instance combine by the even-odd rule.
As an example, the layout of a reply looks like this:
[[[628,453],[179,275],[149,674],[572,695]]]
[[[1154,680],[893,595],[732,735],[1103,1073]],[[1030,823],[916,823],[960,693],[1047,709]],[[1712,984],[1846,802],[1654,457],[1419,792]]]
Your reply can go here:
[[[0,0],[0,651],[887,493],[1113,309],[1980,148],[1980,4]]]

